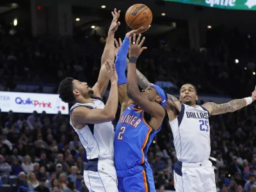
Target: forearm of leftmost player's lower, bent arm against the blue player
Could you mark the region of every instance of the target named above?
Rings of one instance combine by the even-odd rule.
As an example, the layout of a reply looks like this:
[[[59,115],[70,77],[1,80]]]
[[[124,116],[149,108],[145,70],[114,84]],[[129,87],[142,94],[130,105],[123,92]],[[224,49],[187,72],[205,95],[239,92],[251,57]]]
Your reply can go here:
[[[108,101],[104,108],[104,111],[107,115],[115,118],[116,110],[118,106],[118,90],[117,90],[117,82],[111,82],[111,88],[109,91]]]

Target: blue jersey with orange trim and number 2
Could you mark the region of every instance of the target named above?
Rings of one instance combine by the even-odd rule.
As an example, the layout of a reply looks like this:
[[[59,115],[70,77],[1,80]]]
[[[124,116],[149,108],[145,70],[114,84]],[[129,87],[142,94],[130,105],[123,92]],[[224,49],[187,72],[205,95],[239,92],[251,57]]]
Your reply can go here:
[[[150,115],[130,104],[116,125],[114,140],[115,167],[117,171],[134,168],[147,162],[147,151],[159,129],[150,127]]]

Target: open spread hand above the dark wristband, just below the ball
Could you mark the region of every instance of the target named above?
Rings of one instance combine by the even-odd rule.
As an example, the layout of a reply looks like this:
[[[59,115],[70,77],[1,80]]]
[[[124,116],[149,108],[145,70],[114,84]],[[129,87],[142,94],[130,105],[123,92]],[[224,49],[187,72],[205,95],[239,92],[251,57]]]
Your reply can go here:
[[[130,41],[130,46],[129,46],[129,57],[135,57],[138,58],[140,56],[141,52],[147,47],[141,47],[143,42],[145,41],[145,36],[142,38],[140,42],[141,34],[138,36],[136,40],[136,35],[135,33],[133,34],[133,38],[129,38]]]

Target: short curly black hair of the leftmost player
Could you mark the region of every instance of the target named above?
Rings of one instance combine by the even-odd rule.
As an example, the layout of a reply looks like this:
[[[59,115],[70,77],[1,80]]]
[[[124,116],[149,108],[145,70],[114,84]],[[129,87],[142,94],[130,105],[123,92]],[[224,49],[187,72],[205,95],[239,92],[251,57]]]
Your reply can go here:
[[[72,77],[67,77],[63,81],[61,81],[60,86],[58,88],[59,97],[63,102],[74,103],[76,102],[76,97],[73,94],[73,81]]]

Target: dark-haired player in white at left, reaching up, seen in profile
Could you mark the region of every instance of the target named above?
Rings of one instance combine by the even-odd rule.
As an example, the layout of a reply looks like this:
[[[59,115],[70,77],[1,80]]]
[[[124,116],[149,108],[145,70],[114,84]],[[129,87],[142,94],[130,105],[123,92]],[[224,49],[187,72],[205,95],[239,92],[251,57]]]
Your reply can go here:
[[[97,83],[90,88],[87,83],[72,77],[61,81],[58,93],[64,102],[76,103],[70,109],[70,124],[77,132],[86,150],[88,163],[84,168],[84,182],[89,191],[117,192],[117,177],[114,164],[114,126],[118,107],[118,77],[115,70],[114,35],[120,25],[120,12],[112,12],[113,21],[101,58]],[[102,97],[111,88],[106,106]]]

